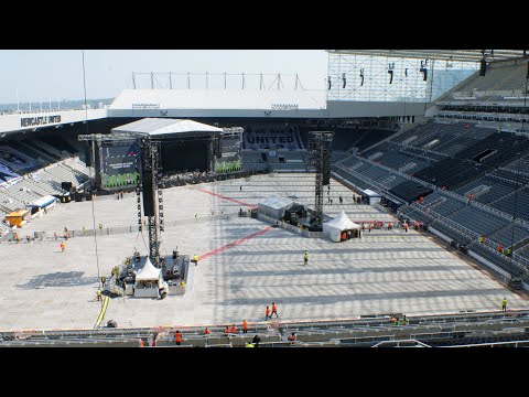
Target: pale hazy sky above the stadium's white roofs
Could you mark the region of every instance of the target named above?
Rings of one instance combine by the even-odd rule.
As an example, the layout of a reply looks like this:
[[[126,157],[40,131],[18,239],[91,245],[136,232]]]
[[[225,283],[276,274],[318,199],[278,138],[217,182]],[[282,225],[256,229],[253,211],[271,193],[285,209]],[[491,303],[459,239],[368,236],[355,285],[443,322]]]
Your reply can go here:
[[[263,76],[266,88],[277,87],[276,75],[282,75],[282,88],[293,88],[298,74],[305,89],[324,89],[327,53],[324,50],[86,50],[87,99],[115,98],[125,88],[132,88],[132,72],[182,73],[173,75],[173,88],[259,89]],[[212,74],[219,74],[213,76]],[[273,75],[273,76],[272,76]],[[291,76],[287,76],[291,75]],[[158,86],[169,88],[169,75],[155,75]],[[150,87],[149,75],[137,75],[138,88]],[[0,50],[0,104],[47,103],[83,99],[82,50]],[[18,94],[17,94],[18,93]]]

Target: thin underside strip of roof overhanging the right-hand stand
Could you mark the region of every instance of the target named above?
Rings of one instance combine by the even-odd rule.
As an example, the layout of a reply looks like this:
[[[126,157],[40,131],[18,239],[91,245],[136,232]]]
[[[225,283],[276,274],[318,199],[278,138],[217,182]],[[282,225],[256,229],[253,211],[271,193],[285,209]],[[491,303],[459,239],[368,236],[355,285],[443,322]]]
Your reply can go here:
[[[331,54],[373,55],[454,62],[479,62],[484,50],[327,50]],[[485,50],[488,62],[527,57],[526,50]]]

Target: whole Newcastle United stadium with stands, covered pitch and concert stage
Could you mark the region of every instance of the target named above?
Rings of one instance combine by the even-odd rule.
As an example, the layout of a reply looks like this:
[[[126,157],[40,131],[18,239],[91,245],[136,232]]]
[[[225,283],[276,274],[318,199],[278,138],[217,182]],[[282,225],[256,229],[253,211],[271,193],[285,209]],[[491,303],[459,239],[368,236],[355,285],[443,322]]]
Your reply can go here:
[[[526,51],[327,55],[3,111],[0,346],[529,345]]]

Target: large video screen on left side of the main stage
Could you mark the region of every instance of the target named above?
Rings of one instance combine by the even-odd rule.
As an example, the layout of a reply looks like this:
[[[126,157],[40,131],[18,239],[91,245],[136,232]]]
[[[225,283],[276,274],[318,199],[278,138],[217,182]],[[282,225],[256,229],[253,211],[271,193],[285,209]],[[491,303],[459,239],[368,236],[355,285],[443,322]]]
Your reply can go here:
[[[140,173],[139,149],[133,141],[104,142],[100,148],[101,187],[122,189],[134,186]]]

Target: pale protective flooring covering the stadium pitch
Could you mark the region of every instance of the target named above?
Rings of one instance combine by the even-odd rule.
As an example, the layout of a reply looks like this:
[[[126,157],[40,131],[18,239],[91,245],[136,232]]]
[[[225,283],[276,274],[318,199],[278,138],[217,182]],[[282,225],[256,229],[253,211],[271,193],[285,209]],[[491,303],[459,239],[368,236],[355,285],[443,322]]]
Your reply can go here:
[[[305,238],[251,217],[238,217],[272,194],[295,196],[310,207],[314,202],[313,174],[271,174],[163,192],[165,233],[162,255],[176,248],[196,254],[198,265],[184,296],[163,300],[111,299],[102,323],[118,326],[239,324],[264,320],[276,302],[280,320],[334,320],[398,312],[408,315],[499,310],[504,297],[510,309],[527,309],[527,301],[477,269],[461,253],[430,235],[401,229],[364,233],[361,239],[333,243]],[[326,195],[326,194],[325,194]],[[342,195],[344,204],[338,204]],[[356,222],[390,221],[376,206],[353,204],[353,192],[332,180],[333,204]],[[326,200],[325,200],[326,201]],[[93,227],[91,202],[61,204],[25,233],[45,230],[53,236]],[[147,254],[147,233],[137,232],[136,195],[96,200],[96,228],[121,230],[69,238],[60,243],[1,243],[0,328],[41,330],[91,328],[101,310],[95,300],[99,273],[131,256]],[[196,218],[195,218],[196,214]],[[132,233],[126,232],[131,229]],[[310,253],[303,265],[303,253]]]

